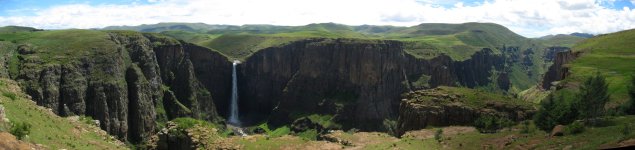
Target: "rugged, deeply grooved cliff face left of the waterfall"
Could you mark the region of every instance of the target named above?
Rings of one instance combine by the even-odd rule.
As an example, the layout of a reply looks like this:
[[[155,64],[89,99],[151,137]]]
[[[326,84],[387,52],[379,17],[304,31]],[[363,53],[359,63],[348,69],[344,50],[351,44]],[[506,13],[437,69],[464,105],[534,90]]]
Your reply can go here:
[[[20,71],[13,78],[38,105],[61,116],[92,116],[122,140],[144,141],[156,131],[155,107],[164,107],[164,93],[173,93],[167,95],[173,98],[170,102],[189,109],[191,113],[184,115],[217,119],[212,99],[225,95],[220,88],[226,86],[225,79],[207,74],[226,73],[230,64],[224,56],[151,34],[108,35],[108,42],[115,43],[109,48],[115,51],[94,47],[85,55],[64,56],[69,58],[66,62],[43,61],[39,58],[46,53],[36,51],[36,46],[20,46]],[[207,78],[198,80],[199,76]],[[214,90],[219,94],[212,96]],[[172,108],[165,107],[178,111]]]

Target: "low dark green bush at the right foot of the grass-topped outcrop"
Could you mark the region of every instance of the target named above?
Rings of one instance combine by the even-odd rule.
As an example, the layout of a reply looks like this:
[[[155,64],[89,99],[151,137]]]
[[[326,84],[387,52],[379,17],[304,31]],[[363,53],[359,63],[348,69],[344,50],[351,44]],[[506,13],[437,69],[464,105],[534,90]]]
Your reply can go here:
[[[495,133],[498,129],[512,125],[513,121],[507,118],[491,115],[483,115],[474,121],[474,127],[481,133]]]

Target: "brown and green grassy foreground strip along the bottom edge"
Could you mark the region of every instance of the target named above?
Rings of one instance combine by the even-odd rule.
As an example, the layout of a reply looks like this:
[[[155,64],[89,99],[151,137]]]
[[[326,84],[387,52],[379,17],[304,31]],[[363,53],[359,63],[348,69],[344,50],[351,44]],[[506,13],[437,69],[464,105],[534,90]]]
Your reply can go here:
[[[584,132],[549,136],[533,124],[519,124],[484,134],[473,127],[450,126],[409,131],[401,138],[382,132],[331,131],[321,140],[284,135],[269,138],[265,134],[230,136],[214,139],[215,148],[233,149],[606,149],[635,145],[635,116],[607,118],[604,125],[586,127]],[[625,129],[626,128],[626,129]],[[440,140],[435,132],[443,130]],[[628,130],[628,131],[625,131]],[[192,134],[196,135],[196,134]],[[210,139],[207,139],[210,140]],[[219,146],[222,145],[222,146]],[[206,146],[203,146],[206,147]],[[207,147],[210,148],[210,147]]]

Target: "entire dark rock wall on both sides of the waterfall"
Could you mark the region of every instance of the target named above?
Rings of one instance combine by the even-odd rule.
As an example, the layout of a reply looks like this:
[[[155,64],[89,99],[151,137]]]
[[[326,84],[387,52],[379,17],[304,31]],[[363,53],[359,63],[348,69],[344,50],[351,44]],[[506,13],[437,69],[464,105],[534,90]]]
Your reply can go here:
[[[156,133],[158,121],[227,116],[232,60],[155,34],[108,36],[113,51],[96,47],[63,63],[42,61],[45,53],[22,45],[20,71],[12,78],[38,105],[62,116],[92,116],[108,133],[132,142]],[[399,41],[300,40],[260,50],[239,65],[240,113],[246,124],[328,114],[344,128],[383,130],[385,119],[399,115],[402,93],[509,83],[504,63],[490,49],[455,61],[415,58]]]

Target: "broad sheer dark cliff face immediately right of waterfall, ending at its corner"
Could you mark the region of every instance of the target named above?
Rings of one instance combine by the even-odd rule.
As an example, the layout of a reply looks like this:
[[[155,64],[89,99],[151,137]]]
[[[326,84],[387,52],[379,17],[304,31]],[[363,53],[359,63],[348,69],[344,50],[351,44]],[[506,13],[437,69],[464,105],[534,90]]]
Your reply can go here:
[[[241,65],[241,113],[288,123],[307,113],[336,114],[362,129],[395,116],[403,53],[395,41],[312,39],[264,49]]]

